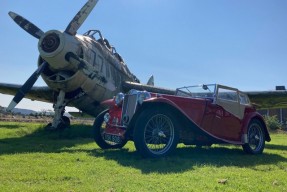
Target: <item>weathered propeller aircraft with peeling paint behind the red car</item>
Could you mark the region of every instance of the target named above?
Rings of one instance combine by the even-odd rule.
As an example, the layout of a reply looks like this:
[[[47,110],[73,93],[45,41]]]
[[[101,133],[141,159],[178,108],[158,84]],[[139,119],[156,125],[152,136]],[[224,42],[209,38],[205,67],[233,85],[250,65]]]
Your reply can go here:
[[[74,16],[64,31],[42,31],[32,22],[14,12],[9,16],[23,30],[37,38],[38,68],[21,86],[0,83],[0,93],[15,95],[9,106],[11,111],[24,97],[53,103],[54,118],[51,129],[69,125],[64,116],[66,106],[97,116],[104,109],[101,102],[118,92],[130,89],[174,94],[173,90],[154,87],[153,76],[146,85],[130,72],[123,58],[99,30],[78,34],[98,0],[88,0]],[[41,76],[48,86],[34,86]],[[246,92],[252,102],[264,103],[262,107],[282,107],[287,104],[287,92]],[[278,102],[277,102],[278,101]]]

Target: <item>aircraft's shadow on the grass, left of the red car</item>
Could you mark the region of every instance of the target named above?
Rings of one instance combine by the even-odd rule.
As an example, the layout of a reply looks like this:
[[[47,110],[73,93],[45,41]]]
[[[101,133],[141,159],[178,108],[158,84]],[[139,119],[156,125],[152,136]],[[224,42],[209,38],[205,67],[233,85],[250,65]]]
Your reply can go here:
[[[29,124],[22,125],[3,126],[6,129],[14,129],[14,137],[0,139],[0,155],[33,152],[60,153],[63,148],[93,141],[92,126],[89,125],[75,124],[61,131],[47,131],[44,125],[32,127],[33,124],[31,124],[31,128]]]

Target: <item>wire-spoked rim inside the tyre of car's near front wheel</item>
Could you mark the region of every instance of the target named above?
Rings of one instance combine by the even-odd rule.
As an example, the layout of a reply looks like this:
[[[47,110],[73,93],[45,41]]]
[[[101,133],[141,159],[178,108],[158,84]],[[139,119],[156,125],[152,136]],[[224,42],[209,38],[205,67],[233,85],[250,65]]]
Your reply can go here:
[[[151,153],[156,155],[166,153],[174,140],[172,121],[163,114],[153,116],[146,124],[144,141]]]

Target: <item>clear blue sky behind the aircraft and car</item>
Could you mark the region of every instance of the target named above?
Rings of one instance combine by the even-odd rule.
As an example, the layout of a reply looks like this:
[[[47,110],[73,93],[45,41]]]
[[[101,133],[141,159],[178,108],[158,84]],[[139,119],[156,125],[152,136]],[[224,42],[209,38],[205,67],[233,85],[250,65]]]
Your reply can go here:
[[[72,3],[71,3],[72,2]],[[0,2],[0,82],[22,84],[36,69],[37,39],[8,16],[64,30],[85,0]],[[160,87],[221,83],[240,90],[287,85],[285,0],[99,0],[78,33],[100,29],[130,70]],[[39,78],[36,85],[45,83]],[[0,105],[12,97],[0,94]],[[51,109],[22,101],[18,107]]]

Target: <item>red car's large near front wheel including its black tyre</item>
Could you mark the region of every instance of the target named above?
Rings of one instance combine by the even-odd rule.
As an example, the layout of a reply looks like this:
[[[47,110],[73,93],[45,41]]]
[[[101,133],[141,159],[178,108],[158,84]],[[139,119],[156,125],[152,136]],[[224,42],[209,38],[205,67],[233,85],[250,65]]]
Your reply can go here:
[[[141,113],[134,129],[134,143],[143,157],[162,157],[177,146],[179,131],[173,115],[163,109]]]

